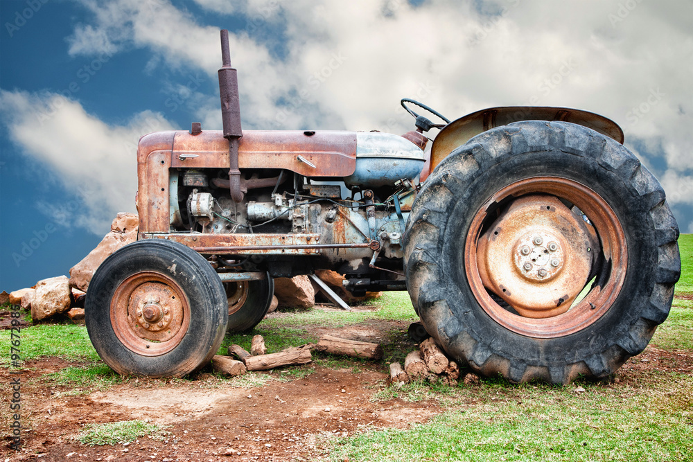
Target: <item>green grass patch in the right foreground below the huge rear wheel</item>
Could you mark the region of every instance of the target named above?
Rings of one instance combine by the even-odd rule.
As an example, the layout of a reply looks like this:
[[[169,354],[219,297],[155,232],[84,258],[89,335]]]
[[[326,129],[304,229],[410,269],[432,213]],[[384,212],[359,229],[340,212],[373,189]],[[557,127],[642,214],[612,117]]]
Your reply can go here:
[[[328,442],[333,461],[691,461],[692,377],[652,387],[449,389],[453,409],[409,429]],[[403,387],[404,388],[404,387]]]

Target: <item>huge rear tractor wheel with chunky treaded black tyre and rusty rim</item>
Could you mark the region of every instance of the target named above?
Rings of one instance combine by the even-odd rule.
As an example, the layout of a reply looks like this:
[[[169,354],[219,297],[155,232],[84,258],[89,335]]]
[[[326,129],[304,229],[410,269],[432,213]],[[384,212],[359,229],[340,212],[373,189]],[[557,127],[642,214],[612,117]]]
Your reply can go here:
[[[610,375],[667,318],[681,273],[658,181],[620,143],[570,123],[513,123],[451,152],[406,237],[426,330],[513,382]]]

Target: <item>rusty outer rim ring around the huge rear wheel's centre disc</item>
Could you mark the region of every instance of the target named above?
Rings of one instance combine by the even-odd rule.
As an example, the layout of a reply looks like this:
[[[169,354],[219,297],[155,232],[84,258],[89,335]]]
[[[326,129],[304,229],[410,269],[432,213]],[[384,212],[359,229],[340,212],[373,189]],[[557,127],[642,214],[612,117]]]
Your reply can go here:
[[[597,281],[602,282],[601,286],[595,284],[584,299],[567,311],[559,314],[545,312],[545,317],[541,318],[529,317],[526,312],[523,316],[520,310],[511,312],[497,303],[484,286],[484,263],[480,261],[480,240],[489,223],[495,220],[490,213],[494,206],[502,203],[512,204],[522,197],[537,194],[566,199],[577,206],[597,233],[596,242],[601,249],[594,249],[595,252],[601,250],[604,258],[610,261],[610,264],[604,265],[601,270],[608,272],[606,277],[597,274]],[[491,319],[513,332],[528,337],[563,337],[595,323],[604,316],[617,298],[624,283],[626,265],[626,238],[611,206],[594,190],[565,178],[534,177],[502,188],[477,211],[466,235],[464,268],[475,299]]]

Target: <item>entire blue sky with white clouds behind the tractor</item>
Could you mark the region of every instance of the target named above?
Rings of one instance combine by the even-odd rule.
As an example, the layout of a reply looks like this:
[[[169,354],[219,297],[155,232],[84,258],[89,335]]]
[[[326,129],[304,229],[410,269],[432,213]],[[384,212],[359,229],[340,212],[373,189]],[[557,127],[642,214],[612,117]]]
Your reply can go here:
[[[220,128],[220,28],[245,129],[382,130],[421,100],[577,107],[693,232],[693,3],[0,0],[0,290],[68,274],[134,211],[141,134]]]

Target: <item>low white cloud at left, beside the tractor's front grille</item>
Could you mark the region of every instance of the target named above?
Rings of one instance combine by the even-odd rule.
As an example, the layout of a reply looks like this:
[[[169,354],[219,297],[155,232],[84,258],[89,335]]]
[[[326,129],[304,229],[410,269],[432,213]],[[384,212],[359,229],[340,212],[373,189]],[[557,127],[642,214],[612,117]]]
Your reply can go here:
[[[139,137],[170,129],[161,114],[150,111],[135,114],[128,125],[107,125],[58,94],[0,90],[0,107],[10,139],[79,197],[74,204],[40,202],[39,210],[97,235],[117,212],[135,211]]]

